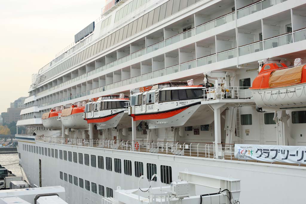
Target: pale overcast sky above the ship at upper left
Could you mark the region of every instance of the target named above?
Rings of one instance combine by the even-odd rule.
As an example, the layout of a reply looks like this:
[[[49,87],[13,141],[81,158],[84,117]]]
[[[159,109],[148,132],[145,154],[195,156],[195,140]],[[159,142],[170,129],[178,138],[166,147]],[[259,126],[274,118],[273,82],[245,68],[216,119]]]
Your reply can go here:
[[[28,96],[32,74],[99,18],[104,0],[0,2],[0,114]]]

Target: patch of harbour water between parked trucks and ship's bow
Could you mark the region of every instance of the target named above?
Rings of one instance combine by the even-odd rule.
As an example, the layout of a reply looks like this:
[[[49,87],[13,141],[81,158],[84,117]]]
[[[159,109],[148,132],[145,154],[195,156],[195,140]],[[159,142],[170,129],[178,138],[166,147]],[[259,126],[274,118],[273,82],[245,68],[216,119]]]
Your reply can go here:
[[[24,176],[25,180],[28,182],[23,169],[19,166],[18,153],[0,154],[0,164],[16,176]]]

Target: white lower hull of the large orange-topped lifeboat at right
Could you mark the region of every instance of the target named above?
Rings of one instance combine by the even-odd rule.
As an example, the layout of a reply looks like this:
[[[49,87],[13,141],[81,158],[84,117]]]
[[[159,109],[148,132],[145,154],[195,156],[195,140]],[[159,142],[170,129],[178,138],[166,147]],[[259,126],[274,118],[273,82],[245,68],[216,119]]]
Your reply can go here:
[[[306,83],[250,90],[259,107],[275,110],[306,107]]]

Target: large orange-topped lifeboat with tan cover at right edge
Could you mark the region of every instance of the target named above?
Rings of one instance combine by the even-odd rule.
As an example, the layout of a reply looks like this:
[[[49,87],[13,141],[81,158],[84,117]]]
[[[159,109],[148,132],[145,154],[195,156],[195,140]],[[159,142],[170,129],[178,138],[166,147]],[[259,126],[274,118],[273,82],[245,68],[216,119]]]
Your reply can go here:
[[[306,107],[306,65],[263,65],[250,90],[260,108],[280,110]]]

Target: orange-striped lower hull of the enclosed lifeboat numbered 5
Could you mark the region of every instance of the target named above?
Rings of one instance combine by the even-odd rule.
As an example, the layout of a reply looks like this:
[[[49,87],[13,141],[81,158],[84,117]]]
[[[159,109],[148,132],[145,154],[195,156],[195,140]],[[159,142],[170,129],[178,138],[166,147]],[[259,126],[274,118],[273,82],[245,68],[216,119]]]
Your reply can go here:
[[[101,118],[88,118],[87,123],[93,123],[97,125],[97,129],[107,128],[130,128],[132,127],[132,118],[129,117],[127,111],[122,111],[113,115],[109,115]]]

